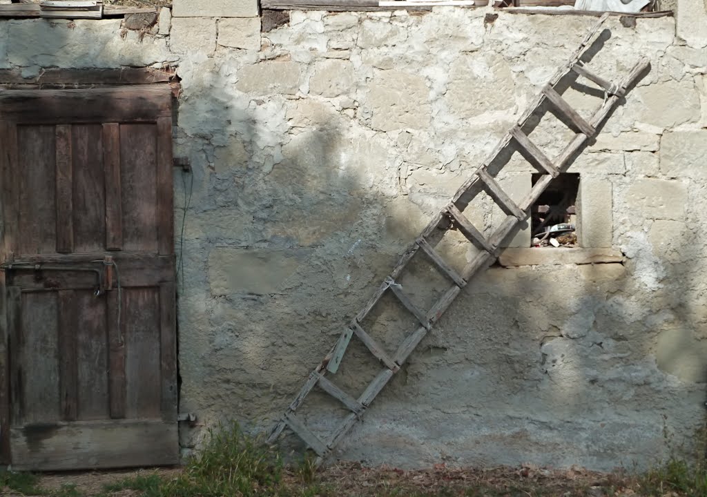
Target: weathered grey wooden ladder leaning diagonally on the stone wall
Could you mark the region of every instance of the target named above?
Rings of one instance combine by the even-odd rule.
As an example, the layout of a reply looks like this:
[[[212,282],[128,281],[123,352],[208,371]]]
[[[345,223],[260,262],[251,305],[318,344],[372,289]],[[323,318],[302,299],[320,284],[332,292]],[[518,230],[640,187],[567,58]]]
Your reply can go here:
[[[383,387],[387,385],[387,382],[390,381],[393,375],[397,373],[410,353],[430,331],[432,325],[440,319],[443,312],[447,310],[452,301],[459,295],[462,288],[466,286],[467,281],[472,279],[472,277],[481,270],[489,267],[493,261],[496,260],[498,252],[501,250],[501,243],[529,216],[532,204],[537,201],[540,194],[544,192],[554,177],[559,175],[559,173],[568,166],[574,154],[579,151],[588,139],[596,134],[597,127],[607,118],[617,103],[619,103],[621,97],[626,93],[626,89],[638,81],[641,74],[650,67],[648,59],[641,59],[636,66],[633,67],[628,76],[617,84],[592,74],[583,65],[580,59],[592,45],[599,28],[602,23],[607,20],[608,16],[609,14],[604,14],[602,18],[600,18],[585,37],[580,47],[575,51],[568,64],[562,66],[555,76],[551,78],[547,86],[542,89],[541,93],[537,95],[530,107],[528,107],[526,112],[520,117],[518,124],[508,131],[506,136],[503,137],[501,142],[491,152],[489,158],[481,164],[469,180],[464,182],[460,189],[457,190],[454,197],[452,197],[449,204],[434,216],[419,238],[407,248],[390,275],[385,278],[385,281],[383,281],[380,288],[378,288],[378,291],[370,298],[366,307],[363,308],[361,312],[358,312],[356,317],[349,322],[349,325],[344,329],[344,332],[341,333],[341,337],[339,337],[339,340],[332,350],[329,351],[322,363],[309,375],[305,385],[290,404],[281,421],[272,431],[268,439],[269,443],[274,442],[274,440],[281,435],[284,428],[289,427],[308,447],[317,452],[317,464],[320,464],[324,458],[327,457],[329,452],[331,452],[331,450],[344,439],[346,434],[351,431],[356,421],[361,420],[363,413],[370,406],[371,402],[373,402],[373,399],[375,399]],[[594,115],[588,120],[581,117],[556,90],[556,86],[558,86],[561,79],[567,76],[571,71],[578,76],[583,76],[593,83],[596,83],[605,92],[606,98],[604,98],[602,105],[600,105],[598,110],[596,110]],[[554,107],[554,110],[558,112],[559,115],[564,117],[564,122],[573,125],[572,127],[576,132],[574,138],[555,160],[550,160],[530,141],[527,134],[522,131],[522,128],[525,126],[530,116],[546,100],[551,107]],[[520,205],[515,204],[515,202],[510,199],[508,194],[501,189],[498,182],[496,182],[493,175],[488,170],[489,165],[510,146],[512,140],[516,142],[517,146],[522,151],[525,151],[524,155],[527,158],[532,159],[530,162],[534,162],[536,166],[539,166],[539,168],[547,173],[543,174],[539,180],[535,182],[530,193],[520,202]],[[506,219],[488,239],[484,238],[484,235],[472,225],[467,216],[462,214],[462,211],[464,211],[474,197],[482,191],[486,191],[507,214]],[[460,230],[469,242],[472,242],[472,244],[479,248],[476,257],[464,267],[461,273],[452,269],[450,264],[445,262],[439,252],[435,250],[435,246],[442,238],[443,233],[450,229]],[[402,276],[407,264],[418,250],[422,250],[436,265],[440,273],[452,283],[448,290],[442,294],[441,298],[428,311],[421,310],[414,305],[411,298],[402,290],[402,286],[396,283],[396,280]],[[361,327],[363,319],[387,291],[392,291],[399,300],[399,303],[419,321],[419,327],[403,339],[397,351],[392,356]],[[333,374],[337,372],[346,347],[349,345],[349,341],[354,334],[383,365],[380,373],[368,384],[368,387],[366,387],[366,390],[363,391],[358,399],[355,399],[325,378],[327,373]],[[346,409],[351,411],[334,432],[329,435],[328,440],[322,440],[313,433],[308,426],[305,426],[302,419],[295,415],[298,407],[303,404],[305,397],[307,397],[315,387],[319,387],[321,390],[334,397],[334,399],[341,402]]]

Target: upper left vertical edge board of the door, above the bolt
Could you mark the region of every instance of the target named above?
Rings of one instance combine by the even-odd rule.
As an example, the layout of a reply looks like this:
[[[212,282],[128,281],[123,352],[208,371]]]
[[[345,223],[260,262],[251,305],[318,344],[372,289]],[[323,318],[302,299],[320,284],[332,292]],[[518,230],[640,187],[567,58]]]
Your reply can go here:
[[[17,252],[18,221],[20,212],[20,189],[17,187],[17,126],[13,122],[0,121],[0,174],[2,188],[3,252],[1,259],[13,258]]]

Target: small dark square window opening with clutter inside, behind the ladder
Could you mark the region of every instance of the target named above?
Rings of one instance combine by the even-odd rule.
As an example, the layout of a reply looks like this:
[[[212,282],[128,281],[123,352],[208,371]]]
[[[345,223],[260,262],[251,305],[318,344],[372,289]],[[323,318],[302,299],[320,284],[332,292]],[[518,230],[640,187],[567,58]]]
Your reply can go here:
[[[532,175],[532,184],[542,177]],[[578,173],[561,173],[542,192],[530,209],[533,247],[578,247],[577,193]]]

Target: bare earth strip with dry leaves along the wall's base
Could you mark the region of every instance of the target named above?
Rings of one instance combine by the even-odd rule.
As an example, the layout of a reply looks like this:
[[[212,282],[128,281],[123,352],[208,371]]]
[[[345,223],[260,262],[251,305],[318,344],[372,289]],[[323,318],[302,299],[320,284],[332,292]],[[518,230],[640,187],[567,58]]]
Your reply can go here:
[[[66,486],[75,486],[80,496],[139,497],[141,491],[123,489],[105,491],[107,484],[158,474],[169,479],[180,469],[137,469],[115,472],[76,472],[44,474],[39,486],[44,495],[56,495]],[[317,496],[643,496],[656,495],[645,492],[636,479],[617,474],[602,474],[584,469],[553,470],[534,467],[531,464],[519,468],[453,469],[436,464],[430,469],[404,471],[393,467],[366,468],[360,464],[339,463],[322,469],[308,484],[320,484],[322,493]],[[301,474],[286,475],[286,484],[296,488],[302,486]],[[9,489],[0,492],[6,497],[21,496]],[[63,494],[62,494],[63,495]],[[308,494],[309,495],[309,494]],[[675,497],[683,494],[666,491],[658,495]]]

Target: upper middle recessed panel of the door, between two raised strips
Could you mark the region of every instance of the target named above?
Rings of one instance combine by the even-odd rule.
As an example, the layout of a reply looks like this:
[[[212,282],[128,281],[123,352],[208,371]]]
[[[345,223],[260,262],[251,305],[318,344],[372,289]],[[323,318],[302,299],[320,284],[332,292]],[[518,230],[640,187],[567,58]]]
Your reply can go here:
[[[103,127],[74,125],[74,252],[103,252],[105,182]]]

